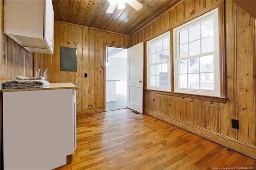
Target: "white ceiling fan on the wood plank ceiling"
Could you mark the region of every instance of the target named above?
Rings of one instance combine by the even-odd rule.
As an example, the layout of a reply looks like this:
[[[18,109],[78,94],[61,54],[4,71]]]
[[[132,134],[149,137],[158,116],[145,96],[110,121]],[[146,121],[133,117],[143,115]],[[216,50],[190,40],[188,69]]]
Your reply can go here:
[[[132,6],[132,8],[134,8],[137,11],[143,7],[143,5],[140,4],[140,2],[138,2],[137,0],[108,0],[108,2],[110,3],[110,5],[108,6],[106,13],[113,13],[116,8],[116,5],[117,9],[123,9],[124,3],[129,4],[130,6]]]

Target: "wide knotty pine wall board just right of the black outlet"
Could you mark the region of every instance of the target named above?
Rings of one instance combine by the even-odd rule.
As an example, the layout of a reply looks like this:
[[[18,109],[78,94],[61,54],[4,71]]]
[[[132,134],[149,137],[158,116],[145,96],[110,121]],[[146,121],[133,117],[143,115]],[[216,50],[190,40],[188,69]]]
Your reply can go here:
[[[236,6],[236,29],[237,29],[237,118],[240,121],[238,140],[254,144],[254,72],[252,69],[254,57],[255,37],[252,33],[254,19]]]

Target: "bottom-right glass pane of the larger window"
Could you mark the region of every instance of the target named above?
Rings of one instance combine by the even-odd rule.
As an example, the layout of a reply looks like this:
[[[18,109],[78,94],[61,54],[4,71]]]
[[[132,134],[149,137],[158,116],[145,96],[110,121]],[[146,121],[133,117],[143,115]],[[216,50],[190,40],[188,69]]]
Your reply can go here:
[[[214,90],[214,73],[202,73],[200,76],[201,89]]]

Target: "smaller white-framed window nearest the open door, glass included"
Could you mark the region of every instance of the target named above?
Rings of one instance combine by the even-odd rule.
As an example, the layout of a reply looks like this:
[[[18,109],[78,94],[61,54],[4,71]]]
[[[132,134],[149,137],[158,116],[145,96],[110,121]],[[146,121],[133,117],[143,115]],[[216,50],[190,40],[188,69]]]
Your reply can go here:
[[[147,42],[148,89],[170,91],[170,32]]]

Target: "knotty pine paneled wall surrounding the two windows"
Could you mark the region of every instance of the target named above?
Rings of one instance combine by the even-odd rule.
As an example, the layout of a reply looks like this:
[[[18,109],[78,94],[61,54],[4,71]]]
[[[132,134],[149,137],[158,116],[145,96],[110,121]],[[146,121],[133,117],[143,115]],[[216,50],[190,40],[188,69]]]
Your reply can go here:
[[[144,93],[145,113],[185,128],[256,158],[256,46],[255,19],[230,0],[185,0],[132,35],[132,45],[146,41],[217,4],[225,6],[226,103]],[[172,44],[172,40],[171,40]],[[172,49],[172,47],[171,47]],[[145,54],[146,63],[146,54]],[[146,70],[146,65],[145,65]],[[146,82],[146,71],[145,71]],[[145,87],[146,89],[146,87]],[[239,129],[231,127],[239,121]]]

